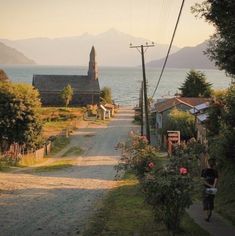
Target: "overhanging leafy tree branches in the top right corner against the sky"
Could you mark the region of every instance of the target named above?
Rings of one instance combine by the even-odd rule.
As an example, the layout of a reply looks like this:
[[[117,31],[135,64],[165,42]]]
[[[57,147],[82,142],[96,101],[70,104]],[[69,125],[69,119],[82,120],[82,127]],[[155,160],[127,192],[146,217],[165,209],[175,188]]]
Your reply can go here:
[[[205,0],[192,12],[215,26],[206,54],[221,70],[235,76],[235,1]]]

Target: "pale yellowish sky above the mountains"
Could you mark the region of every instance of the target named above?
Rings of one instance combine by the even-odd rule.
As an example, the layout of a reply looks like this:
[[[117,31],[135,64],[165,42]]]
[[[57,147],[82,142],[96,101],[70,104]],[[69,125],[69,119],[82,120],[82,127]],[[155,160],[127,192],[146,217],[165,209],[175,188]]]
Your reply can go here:
[[[182,0],[0,0],[0,38],[79,36],[110,28],[157,43],[170,42]],[[214,31],[186,0],[174,45],[194,46]]]

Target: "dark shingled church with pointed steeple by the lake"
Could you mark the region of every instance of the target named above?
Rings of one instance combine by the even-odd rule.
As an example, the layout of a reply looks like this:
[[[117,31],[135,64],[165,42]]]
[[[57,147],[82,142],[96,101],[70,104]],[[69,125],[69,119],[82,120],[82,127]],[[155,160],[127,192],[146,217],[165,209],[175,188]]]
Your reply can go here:
[[[99,104],[100,86],[94,46],[90,52],[87,75],[33,75],[33,86],[38,89],[44,106],[63,106],[60,93],[68,84],[73,89],[69,105]]]

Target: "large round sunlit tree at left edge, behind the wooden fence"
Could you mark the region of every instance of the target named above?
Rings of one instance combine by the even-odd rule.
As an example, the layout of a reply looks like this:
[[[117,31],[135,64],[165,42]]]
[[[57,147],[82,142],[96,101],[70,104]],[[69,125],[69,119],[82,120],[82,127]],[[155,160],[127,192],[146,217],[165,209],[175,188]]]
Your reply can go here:
[[[30,85],[0,82],[0,145],[36,148],[42,144],[39,93]]]

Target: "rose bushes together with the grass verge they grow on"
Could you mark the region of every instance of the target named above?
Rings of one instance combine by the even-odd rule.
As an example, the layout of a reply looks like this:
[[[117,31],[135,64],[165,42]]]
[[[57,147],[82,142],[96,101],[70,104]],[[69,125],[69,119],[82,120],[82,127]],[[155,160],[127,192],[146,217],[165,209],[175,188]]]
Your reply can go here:
[[[146,137],[132,133],[116,167],[117,177],[124,171],[124,178],[84,235],[209,235],[185,211],[194,197],[197,150],[192,141],[168,158],[148,145]]]

